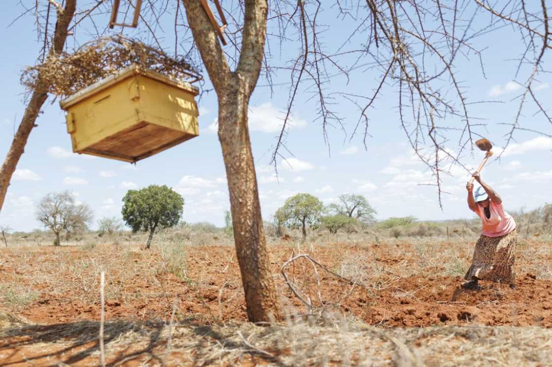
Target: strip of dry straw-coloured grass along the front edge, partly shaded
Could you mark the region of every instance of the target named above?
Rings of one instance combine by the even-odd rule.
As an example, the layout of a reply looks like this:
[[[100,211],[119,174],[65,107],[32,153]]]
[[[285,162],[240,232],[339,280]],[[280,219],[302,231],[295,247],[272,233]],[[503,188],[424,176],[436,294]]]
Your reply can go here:
[[[94,365],[99,361],[98,322],[45,326],[20,321],[0,329],[3,348],[25,337],[26,358],[34,343],[44,359]],[[168,339],[171,339],[170,353]],[[267,366],[487,366],[548,365],[552,330],[538,327],[447,326],[381,329],[343,316],[293,317],[269,327],[251,323],[206,325],[195,320],[115,321],[105,324],[110,365],[133,360],[143,365]],[[13,342],[12,342],[13,341]],[[86,350],[78,346],[88,343]],[[94,344],[95,343],[95,344]],[[512,346],[515,346],[514,348]],[[23,346],[23,348],[25,345]],[[48,358],[48,360],[46,360]]]

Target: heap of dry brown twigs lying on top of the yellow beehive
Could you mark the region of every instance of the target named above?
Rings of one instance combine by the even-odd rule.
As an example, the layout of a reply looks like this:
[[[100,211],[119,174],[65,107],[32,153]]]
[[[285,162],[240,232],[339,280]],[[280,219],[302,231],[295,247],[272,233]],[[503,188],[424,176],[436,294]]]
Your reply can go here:
[[[43,63],[26,68],[21,82],[30,89],[45,85],[49,93],[66,97],[131,64],[179,80],[201,79],[188,60],[176,60],[158,48],[116,35],[88,42],[73,53],[50,55]]]

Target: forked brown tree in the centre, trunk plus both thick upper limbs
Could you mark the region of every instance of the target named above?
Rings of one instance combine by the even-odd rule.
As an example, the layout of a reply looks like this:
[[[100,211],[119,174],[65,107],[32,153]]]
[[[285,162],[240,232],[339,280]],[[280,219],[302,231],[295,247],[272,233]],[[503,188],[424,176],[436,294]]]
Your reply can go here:
[[[230,192],[232,226],[247,316],[251,322],[279,320],[281,315],[270,270],[247,127],[249,99],[261,72],[267,2],[245,1],[240,60],[234,72],[230,71],[214,27],[199,0],[184,0],[184,6],[195,44],[219,101],[219,140]]]

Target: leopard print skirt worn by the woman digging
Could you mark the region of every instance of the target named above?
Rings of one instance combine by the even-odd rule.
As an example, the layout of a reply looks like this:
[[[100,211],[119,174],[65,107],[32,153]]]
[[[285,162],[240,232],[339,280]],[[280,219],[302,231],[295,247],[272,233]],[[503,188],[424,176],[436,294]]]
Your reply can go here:
[[[481,235],[475,244],[474,258],[464,279],[491,280],[514,284],[516,274],[512,269],[516,257],[517,233],[514,229],[500,237]]]

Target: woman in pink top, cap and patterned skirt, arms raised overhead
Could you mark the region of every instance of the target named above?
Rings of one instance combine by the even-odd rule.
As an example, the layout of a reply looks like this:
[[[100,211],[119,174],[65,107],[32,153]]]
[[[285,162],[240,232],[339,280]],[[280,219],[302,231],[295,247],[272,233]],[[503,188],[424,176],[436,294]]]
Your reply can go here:
[[[516,251],[516,222],[502,208],[502,199],[491,186],[481,180],[479,172],[474,179],[481,185],[473,192],[468,182],[468,207],[481,218],[481,236],[475,244],[474,258],[462,285],[465,289],[479,289],[479,280],[509,284],[515,288],[513,272]]]

